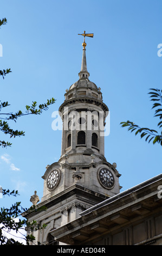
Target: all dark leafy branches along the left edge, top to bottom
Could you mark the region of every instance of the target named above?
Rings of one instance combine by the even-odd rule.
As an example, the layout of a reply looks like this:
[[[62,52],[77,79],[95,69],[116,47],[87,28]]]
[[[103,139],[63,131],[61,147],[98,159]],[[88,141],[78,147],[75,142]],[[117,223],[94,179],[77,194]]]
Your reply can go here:
[[[2,25],[5,25],[7,23],[7,19],[2,19],[0,20],[0,28]],[[11,72],[10,69],[3,69],[0,70],[0,77],[4,77]],[[33,101],[31,106],[27,105],[25,106],[25,112],[23,113],[21,110],[17,111],[16,113],[12,112],[3,112],[2,110],[5,107],[10,106],[9,102],[3,102],[0,100],[0,131],[3,132],[5,135],[10,135],[11,137],[16,137],[16,136],[24,136],[24,131],[18,131],[18,130],[13,130],[10,128],[8,121],[15,121],[22,117],[23,115],[30,115],[30,114],[41,114],[43,111],[46,111],[48,107],[55,102],[54,98],[51,98],[50,100],[47,100],[46,103],[40,104],[37,107],[37,102]],[[11,146],[10,142],[5,142],[0,140],[0,146],[2,147],[7,147]],[[13,190],[2,190],[3,196],[17,196],[18,192]],[[29,222],[28,219],[21,220],[21,214],[25,211],[27,214],[30,213],[31,211],[42,211],[46,210],[44,207],[38,207],[38,206],[31,206],[30,209],[25,209],[22,208],[21,202],[16,202],[15,204],[12,204],[10,209],[5,209],[4,207],[1,208],[0,210],[0,245],[22,245],[22,243],[16,241],[14,238],[8,239],[7,236],[5,236],[5,233],[10,233],[11,230],[16,231],[16,234],[21,233],[22,230],[24,230],[24,227],[27,228],[29,231],[33,230],[43,230],[46,228],[46,225],[40,225],[40,223],[37,223],[36,221]],[[18,221],[17,221],[18,220]],[[29,242],[34,242],[35,237],[32,234],[28,235],[23,235],[24,240],[26,241],[27,245],[29,245]]]

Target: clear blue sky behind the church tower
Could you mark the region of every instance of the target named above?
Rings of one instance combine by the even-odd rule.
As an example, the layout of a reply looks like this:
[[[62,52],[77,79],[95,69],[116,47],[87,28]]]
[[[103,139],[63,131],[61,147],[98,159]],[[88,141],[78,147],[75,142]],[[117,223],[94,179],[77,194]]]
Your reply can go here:
[[[149,88],[161,89],[162,43],[160,0],[8,0],[1,2],[0,29],[3,57],[0,69],[12,73],[1,78],[1,100],[8,112],[25,111],[32,101],[56,103],[39,116],[26,116],[11,123],[25,137],[10,139],[11,148],[0,149],[0,185],[18,190],[17,200],[29,207],[30,196],[43,196],[47,164],[59,160],[61,131],[51,129],[54,111],[64,93],[79,79],[82,36],[87,38],[89,80],[101,88],[103,102],[111,112],[110,134],[105,138],[105,157],[116,162],[124,191],[161,173],[161,146],[148,144],[122,129],[121,121],[157,129]],[[6,109],[7,110],[7,109]],[[1,139],[9,137],[1,134]],[[10,206],[15,198],[0,199]]]

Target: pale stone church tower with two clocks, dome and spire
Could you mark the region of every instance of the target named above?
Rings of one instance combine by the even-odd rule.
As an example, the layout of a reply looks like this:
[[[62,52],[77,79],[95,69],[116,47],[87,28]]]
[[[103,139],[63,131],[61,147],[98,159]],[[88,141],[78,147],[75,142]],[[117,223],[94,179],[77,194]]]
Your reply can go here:
[[[84,38],[88,34],[82,34]],[[80,213],[120,192],[116,164],[107,162],[104,153],[104,129],[108,107],[101,89],[89,80],[84,40],[79,80],[64,94],[59,108],[62,118],[61,157],[46,167],[43,197],[37,205],[47,210],[23,214],[29,221],[47,224],[36,242],[57,242],[50,231],[80,217]],[[61,143],[61,142],[60,142]]]

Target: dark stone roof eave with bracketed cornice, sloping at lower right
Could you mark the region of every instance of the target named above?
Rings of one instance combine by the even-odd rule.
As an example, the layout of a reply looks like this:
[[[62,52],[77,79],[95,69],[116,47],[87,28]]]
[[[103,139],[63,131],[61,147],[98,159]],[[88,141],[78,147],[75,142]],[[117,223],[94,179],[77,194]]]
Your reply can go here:
[[[161,181],[162,174],[159,174],[81,212],[80,218],[50,233],[69,245],[85,245],[153,212],[158,213],[162,203],[158,197]]]

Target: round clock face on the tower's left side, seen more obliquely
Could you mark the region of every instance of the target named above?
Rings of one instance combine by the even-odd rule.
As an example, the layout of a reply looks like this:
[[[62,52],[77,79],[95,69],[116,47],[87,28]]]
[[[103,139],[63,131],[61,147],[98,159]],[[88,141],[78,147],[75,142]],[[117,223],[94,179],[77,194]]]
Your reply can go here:
[[[59,170],[51,170],[47,178],[47,187],[49,190],[53,190],[60,181],[60,172]]]

